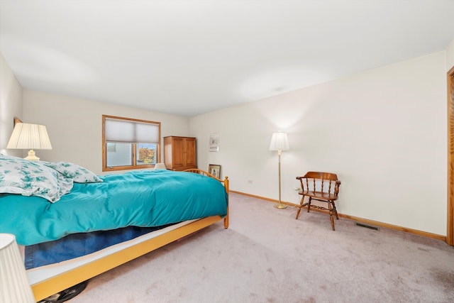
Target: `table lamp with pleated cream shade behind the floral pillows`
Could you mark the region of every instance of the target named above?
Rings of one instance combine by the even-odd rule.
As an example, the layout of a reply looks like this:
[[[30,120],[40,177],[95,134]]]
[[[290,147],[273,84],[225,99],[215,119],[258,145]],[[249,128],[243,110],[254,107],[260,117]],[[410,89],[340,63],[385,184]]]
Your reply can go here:
[[[40,160],[33,150],[51,150],[48,131],[45,126],[30,123],[16,123],[6,148],[30,149],[27,160]]]

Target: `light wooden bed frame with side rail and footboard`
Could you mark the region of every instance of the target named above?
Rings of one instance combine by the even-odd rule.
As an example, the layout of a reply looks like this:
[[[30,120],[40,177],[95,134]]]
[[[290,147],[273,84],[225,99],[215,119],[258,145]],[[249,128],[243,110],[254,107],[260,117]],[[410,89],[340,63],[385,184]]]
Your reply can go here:
[[[218,180],[223,184],[228,194],[228,177],[224,180],[220,180],[204,170],[191,169],[185,171],[206,175]],[[52,294],[66,290],[69,287],[77,285],[80,282],[84,282],[85,280],[89,280],[90,278],[106,272],[107,270],[116,268],[117,266],[138,258],[141,255],[145,255],[146,253],[165,246],[168,243],[172,243],[180,238],[188,236],[195,231],[199,231],[202,228],[210,226],[211,224],[215,224],[217,221],[221,221],[222,219],[224,221],[224,228],[228,228],[228,208],[227,216],[224,218],[221,218],[221,216],[209,216],[193,221],[192,223],[173,229],[172,231],[168,231],[167,233],[156,236],[155,238],[150,238],[111,255],[106,255],[104,258],[94,262],[87,263],[78,268],[74,268],[73,270],[55,275],[47,280],[37,282],[31,285],[35,299],[38,302],[51,296]]]

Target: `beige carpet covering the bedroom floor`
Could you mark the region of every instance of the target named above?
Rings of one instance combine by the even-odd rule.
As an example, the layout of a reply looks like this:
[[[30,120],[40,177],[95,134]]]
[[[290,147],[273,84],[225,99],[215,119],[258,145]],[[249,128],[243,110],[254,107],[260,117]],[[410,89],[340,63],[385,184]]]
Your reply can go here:
[[[89,281],[68,302],[454,302],[443,241],[231,194],[220,223]]]

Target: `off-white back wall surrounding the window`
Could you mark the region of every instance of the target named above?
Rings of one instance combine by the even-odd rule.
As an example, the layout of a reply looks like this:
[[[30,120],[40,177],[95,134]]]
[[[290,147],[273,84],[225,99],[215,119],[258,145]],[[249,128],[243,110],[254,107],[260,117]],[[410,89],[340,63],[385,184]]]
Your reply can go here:
[[[161,122],[161,137],[188,136],[188,118],[144,109],[23,90],[23,121],[48,129],[52,150],[36,150],[47,161],[69,161],[102,172],[102,115]],[[161,160],[162,156],[161,148]]]

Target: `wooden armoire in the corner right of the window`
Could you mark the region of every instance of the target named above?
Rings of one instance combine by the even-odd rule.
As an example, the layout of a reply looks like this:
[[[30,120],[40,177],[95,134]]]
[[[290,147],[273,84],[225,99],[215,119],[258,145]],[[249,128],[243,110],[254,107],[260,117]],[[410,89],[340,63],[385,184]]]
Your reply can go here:
[[[164,137],[164,163],[167,170],[197,168],[196,138]]]

